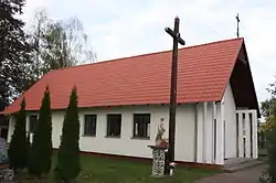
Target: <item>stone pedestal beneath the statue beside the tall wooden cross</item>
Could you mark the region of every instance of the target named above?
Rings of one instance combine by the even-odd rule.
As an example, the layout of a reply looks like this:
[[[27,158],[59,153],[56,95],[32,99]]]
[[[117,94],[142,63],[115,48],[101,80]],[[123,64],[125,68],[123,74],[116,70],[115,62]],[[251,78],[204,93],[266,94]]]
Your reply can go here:
[[[166,168],[166,146],[148,146],[152,149],[152,176],[163,176]]]

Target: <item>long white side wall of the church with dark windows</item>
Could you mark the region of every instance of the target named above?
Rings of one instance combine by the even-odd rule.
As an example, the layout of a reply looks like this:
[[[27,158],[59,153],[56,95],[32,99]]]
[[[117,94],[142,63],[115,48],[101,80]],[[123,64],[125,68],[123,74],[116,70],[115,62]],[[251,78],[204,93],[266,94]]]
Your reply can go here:
[[[106,138],[107,114],[121,114],[121,137]],[[150,119],[150,139],[132,139],[132,114],[149,112]],[[97,115],[96,137],[83,137],[84,115]],[[31,115],[31,114],[29,114]],[[53,111],[53,147],[59,148],[60,136],[62,134],[64,112]],[[121,155],[132,155],[151,158],[150,144],[155,144],[155,138],[160,119],[164,118],[164,137],[168,138],[169,129],[169,106],[132,106],[132,107],[113,107],[79,109],[81,151],[91,151],[98,153],[110,153]],[[192,105],[181,105],[177,107],[177,125],[176,125],[176,160],[194,161],[194,107]],[[29,118],[28,118],[29,121]],[[10,121],[9,137],[13,131],[13,121]],[[29,122],[26,125],[29,129]],[[10,141],[10,138],[9,138]]]

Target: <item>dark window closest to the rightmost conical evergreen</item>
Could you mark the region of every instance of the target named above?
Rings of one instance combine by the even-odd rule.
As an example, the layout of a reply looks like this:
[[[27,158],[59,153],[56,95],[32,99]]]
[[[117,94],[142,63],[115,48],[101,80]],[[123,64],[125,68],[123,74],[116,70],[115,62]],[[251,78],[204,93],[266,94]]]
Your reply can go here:
[[[84,116],[84,136],[96,136],[96,115]]]

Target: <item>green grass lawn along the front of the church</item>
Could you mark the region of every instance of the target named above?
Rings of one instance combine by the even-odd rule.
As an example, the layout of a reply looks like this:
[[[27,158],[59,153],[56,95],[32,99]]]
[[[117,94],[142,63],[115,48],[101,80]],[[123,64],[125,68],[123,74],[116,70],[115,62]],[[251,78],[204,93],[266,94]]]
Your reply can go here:
[[[70,161],[70,160],[68,160]],[[53,158],[53,164],[56,157]],[[78,183],[191,183],[202,176],[217,173],[212,170],[177,168],[173,177],[151,177],[151,164],[148,162],[132,162],[114,158],[99,158],[82,154],[82,173]],[[53,165],[54,166],[54,165]],[[54,182],[53,172],[43,181],[35,181],[25,173],[17,177],[17,182]]]

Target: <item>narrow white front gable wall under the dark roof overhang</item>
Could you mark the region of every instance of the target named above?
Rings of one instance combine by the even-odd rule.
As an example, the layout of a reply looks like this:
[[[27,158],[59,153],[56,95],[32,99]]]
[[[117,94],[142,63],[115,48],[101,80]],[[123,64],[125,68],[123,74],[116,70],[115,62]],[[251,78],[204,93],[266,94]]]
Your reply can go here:
[[[225,158],[237,157],[236,107],[230,84],[224,94]]]

